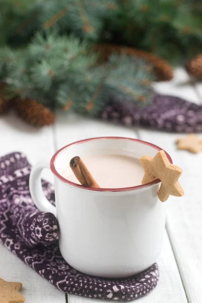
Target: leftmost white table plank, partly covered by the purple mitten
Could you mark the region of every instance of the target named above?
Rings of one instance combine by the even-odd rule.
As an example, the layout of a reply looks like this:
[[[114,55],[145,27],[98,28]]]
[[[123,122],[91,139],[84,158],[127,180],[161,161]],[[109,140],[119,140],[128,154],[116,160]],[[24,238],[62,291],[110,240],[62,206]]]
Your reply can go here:
[[[13,151],[22,151],[31,164],[43,158],[51,158],[54,153],[53,131],[51,127],[34,128],[10,113],[0,119],[0,156]],[[51,173],[43,174],[52,179]],[[27,303],[64,303],[65,295],[51,283],[40,277],[33,269],[14,256],[0,244],[0,277],[23,283],[22,294]]]

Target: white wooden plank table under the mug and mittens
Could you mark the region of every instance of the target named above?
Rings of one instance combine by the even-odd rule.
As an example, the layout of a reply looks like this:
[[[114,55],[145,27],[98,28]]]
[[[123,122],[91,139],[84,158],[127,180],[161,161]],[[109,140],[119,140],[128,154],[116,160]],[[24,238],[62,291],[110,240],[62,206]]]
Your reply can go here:
[[[171,82],[155,84],[156,90],[187,98],[202,104],[202,84],[194,84],[185,70],[177,69]],[[185,190],[182,198],[171,197],[166,203],[167,223],[164,249],[159,258],[160,281],[139,303],[202,302],[202,153],[189,154],[176,150],[179,134],[126,128],[60,112],[54,126],[35,129],[14,114],[0,118],[0,156],[23,151],[36,164],[51,158],[54,151],[70,142],[97,136],[125,136],[150,141],[165,148],[174,164],[182,167],[180,182]],[[201,134],[202,137],[202,134]],[[52,180],[46,172],[46,179]],[[0,277],[23,283],[26,303],[90,303],[91,299],[67,295],[48,283],[30,267],[0,244]],[[94,300],[95,301],[95,300]],[[95,301],[96,302],[96,301]],[[103,302],[103,300],[102,300]]]

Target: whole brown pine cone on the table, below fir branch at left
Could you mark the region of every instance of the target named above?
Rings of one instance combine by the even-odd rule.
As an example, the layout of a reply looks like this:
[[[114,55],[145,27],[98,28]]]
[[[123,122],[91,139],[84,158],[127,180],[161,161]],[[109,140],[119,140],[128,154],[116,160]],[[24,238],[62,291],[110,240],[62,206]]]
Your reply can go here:
[[[23,120],[34,126],[51,125],[55,122],[54,113],[33,99],[16,98],[13,100],[13,107]]]

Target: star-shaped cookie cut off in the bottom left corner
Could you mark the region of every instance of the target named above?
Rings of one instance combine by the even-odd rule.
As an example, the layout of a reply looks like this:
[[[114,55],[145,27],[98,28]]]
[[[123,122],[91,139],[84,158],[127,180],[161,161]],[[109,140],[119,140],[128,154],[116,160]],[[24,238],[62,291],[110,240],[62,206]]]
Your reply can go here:
[[[6,282],[0,278],[0,303],[23,303],[25,298],[20,294],[22,283]]]

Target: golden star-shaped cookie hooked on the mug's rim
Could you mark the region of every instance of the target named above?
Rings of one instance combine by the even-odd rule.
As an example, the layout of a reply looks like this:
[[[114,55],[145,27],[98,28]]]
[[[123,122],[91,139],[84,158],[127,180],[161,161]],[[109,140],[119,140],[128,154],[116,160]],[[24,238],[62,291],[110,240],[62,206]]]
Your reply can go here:
[[[170,163],[164,150],[160,150],[154,158],[143,156],[140,162],[144,169],[142,184],[149,183],[155,179],[161,180],[158,196],[162,202],[165,202],[169,195],[181,197],[184,194],[178,181],[182,174],[182,169]]]

